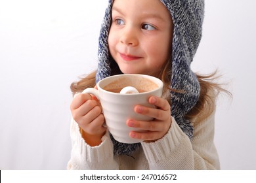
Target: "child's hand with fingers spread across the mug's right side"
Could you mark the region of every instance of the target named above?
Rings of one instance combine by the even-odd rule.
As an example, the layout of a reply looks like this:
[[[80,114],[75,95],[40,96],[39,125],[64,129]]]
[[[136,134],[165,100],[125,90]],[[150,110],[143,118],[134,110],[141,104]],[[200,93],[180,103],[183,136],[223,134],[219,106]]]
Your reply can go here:
[[[146,130],[146,132],[131,131],[130,136],[132,138],[142,139],[144,141],[157,141],[167,133],[171,126],[171,107],[167,100],[156,96],[150,97],[148,102],[155,105],[157,108],[137,105],[135,112],[150,116],[154,118],[154,120],[146,122],[131,119],[127,120],[127,125],[129,127]]]

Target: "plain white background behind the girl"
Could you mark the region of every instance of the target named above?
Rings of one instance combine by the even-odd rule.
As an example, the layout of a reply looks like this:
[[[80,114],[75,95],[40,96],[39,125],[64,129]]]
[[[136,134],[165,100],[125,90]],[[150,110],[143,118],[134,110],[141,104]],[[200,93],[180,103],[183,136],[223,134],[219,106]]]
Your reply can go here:
[[[0,169],[66,169],[71,82],[96,69],[107,0],[0,0]],[[223,75],[222,169],[256,169],[256,3],[205,0],[196,72]]]

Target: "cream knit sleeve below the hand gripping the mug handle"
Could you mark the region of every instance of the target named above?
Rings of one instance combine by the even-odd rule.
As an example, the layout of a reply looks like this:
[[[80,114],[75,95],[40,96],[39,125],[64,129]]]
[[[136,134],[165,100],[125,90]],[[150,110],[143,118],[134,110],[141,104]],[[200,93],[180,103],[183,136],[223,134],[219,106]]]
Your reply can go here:
[[[79,125],[72,119],[70,135],[72,152],[68,169],[118,169],[108,132],[102,137],[102,143],[99,146],[91,147],[81,137]]]

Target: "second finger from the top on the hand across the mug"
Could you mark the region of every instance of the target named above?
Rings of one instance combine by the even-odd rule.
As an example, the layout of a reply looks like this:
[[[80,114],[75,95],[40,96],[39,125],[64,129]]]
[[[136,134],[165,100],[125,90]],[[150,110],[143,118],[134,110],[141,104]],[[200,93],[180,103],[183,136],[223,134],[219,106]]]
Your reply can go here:
[[[165,110],[161,110],[159,108],[144,107],[142,105],[135,106],[134,110],[139,114],[143,114],[151,118],[156,118],[158,120],[165,120],[165,118],[168,118],[167,115],[169,115],[169,112],[166,112]]]

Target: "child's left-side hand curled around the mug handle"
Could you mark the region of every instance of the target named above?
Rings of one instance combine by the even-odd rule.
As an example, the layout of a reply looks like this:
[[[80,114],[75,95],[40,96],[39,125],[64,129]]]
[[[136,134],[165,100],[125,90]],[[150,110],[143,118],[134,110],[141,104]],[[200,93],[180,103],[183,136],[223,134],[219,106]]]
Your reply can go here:
[[[99,145],[106,132],[106,127],[102,126],[105,118],[99,101],[88,93],[81,93],[74,97],[70,110],[75,122],[83,130],[82,136],[87,144]]]

